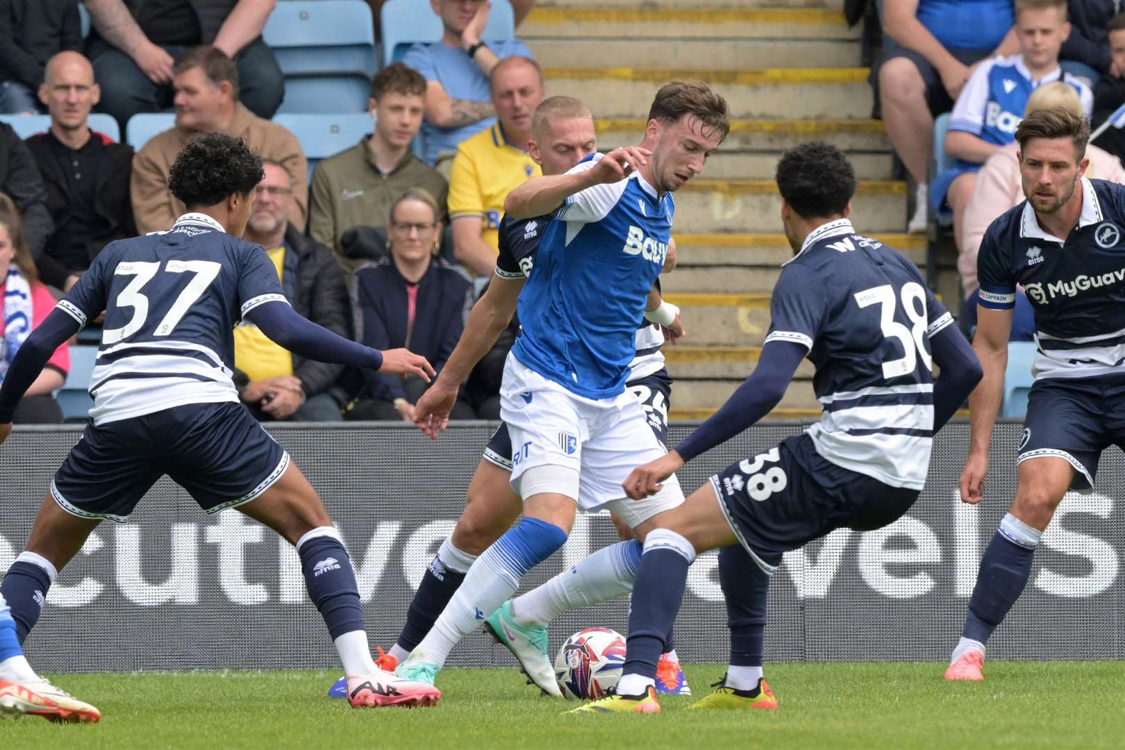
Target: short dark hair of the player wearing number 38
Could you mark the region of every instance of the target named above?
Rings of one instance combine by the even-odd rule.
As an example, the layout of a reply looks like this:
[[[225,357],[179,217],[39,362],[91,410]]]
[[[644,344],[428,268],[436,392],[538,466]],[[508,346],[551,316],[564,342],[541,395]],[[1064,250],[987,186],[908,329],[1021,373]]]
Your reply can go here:
[[[810,141],[794,146],[777,162],[777,189],[799,216],[838,216],[855,195],[855,170],[836,146]]]

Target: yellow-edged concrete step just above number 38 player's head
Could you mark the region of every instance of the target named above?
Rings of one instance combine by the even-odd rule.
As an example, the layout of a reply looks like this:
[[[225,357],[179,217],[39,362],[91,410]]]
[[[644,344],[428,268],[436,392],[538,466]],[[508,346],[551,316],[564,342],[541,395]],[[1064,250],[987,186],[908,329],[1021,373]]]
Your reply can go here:
[[[632,146],[641,142],[646,120],[640,118],[598,118],[600,150]],[[872,119],[734,119],[730,135],[719,147],[727,152],[767,152],[780,154],[806,141],[827,141],[846,152],[891,153],[891,142],[880,120]],[[773,174],[773,169],[768,171]],[[747,175],[742,175],[747,177]]]

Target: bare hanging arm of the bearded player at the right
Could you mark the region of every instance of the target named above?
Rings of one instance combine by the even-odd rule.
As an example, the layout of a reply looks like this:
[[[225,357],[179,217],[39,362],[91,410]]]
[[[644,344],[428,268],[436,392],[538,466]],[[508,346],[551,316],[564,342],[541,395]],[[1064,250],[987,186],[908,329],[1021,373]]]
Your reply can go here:
[[[988,446],[1004,398],[1004,371],[1008,368],[1008,336],[1012,310],[976,308],[976,335],[973,352],[984,374],[969,397],[969,460],[961,472],[961,501],[980,503],[988,473]]]

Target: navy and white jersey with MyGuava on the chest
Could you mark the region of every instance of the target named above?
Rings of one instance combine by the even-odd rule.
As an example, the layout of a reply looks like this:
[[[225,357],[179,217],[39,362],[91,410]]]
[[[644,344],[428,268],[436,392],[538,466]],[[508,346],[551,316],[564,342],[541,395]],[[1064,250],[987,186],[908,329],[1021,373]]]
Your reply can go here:
[[[976,256],[980,304],[1035,313],[1036,378],[1125,372],[1125,188],[1082,179],[1082,214],[1070,236],[1040,227],[1027,201],[992,222]]]

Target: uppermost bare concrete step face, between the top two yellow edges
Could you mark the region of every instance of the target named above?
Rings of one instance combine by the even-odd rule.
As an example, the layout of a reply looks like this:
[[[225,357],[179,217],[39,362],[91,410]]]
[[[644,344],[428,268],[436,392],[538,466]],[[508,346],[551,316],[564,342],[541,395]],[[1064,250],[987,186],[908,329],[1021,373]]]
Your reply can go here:
[[[847,67],[860,63],[857,39],[656,39],[608,38],[576,43],[574,37],[529,39],[543,67]]]

